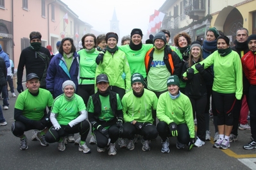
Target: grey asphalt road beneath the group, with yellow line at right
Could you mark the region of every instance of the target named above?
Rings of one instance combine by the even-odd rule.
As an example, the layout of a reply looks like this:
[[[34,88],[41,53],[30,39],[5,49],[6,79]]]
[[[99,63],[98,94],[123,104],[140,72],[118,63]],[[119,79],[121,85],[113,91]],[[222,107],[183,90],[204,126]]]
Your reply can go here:
[[[31,141],[30,130],[25,132],[29,148],[21,151],[19,138],[11,132],[15,100],[11,97],[9,110],[3,111],[8,125],[0,127],[0,169],[256,169],[256,150],[243,150],[243,144],[250,141],[250,130],[239,130],[238,141],[231,143],[228,150],[212,148],[213,141],[191,151],[187,147],[178,150],[175,137],[171,137],[170,153],[161,153],[161,139],[157,137],[151,141],[150,151],[142,151],[140,142],[132,151],[121,149],[116,144],[115,156],[108,156],[107,151],[98,153],[97,146],[89,144],[90,134],[87,146],[91,153],[85,154],[73,143],[67,144],[65,151],[58,151],[57,143],[40,146],[38,141]],[[212,121],[210,130],[213,137]],[[246,162],[246,165],[241,162]]]

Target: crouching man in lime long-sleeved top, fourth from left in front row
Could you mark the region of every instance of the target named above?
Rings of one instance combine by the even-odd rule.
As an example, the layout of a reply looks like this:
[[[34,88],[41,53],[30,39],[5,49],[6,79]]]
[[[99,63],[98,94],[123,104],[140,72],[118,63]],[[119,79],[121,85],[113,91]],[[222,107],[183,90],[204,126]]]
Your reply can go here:
[[[126,93],[122,99],[125,121],[122,137],[129,139],[126,150],[133,150],[135,134],[142,135],[142,150],[149,151],[150,141],[158,135],[152,117],[152,112],[157,109],[157,95],[144,89],[144,78],[141,74],[134,73],[131,82],[132,91]]]

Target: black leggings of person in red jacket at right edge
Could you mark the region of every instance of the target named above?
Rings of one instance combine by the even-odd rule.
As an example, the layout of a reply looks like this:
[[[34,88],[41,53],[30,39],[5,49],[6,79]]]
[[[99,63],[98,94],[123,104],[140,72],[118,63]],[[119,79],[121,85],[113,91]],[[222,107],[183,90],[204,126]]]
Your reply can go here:
[[[256,86],[250,86],[247,101],[250,110],[251,133],[256,141]]]

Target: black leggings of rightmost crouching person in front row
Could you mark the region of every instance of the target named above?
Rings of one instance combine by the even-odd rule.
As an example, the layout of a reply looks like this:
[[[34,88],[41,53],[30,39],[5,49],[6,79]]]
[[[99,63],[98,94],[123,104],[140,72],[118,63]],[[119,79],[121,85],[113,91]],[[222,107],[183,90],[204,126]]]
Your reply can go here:
[[[189,128],[187,124],[182,123],[177,125],[178,127],[178,142],[183,144],[188,144],[190,141]],[[164,121],[159,121],[157,124],[157,131],[163,141],[166,141],[167,137],[172,136],[169,126]]]

